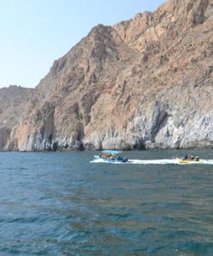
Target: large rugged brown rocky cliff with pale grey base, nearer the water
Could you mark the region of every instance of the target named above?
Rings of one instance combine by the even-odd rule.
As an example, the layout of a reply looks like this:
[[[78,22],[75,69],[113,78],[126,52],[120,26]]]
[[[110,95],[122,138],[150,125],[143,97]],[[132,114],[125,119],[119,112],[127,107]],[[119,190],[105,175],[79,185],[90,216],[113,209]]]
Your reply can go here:
[[[212,17],[212,0],[174,0],[96,26],[55,61],[4,148],[212,147]]]

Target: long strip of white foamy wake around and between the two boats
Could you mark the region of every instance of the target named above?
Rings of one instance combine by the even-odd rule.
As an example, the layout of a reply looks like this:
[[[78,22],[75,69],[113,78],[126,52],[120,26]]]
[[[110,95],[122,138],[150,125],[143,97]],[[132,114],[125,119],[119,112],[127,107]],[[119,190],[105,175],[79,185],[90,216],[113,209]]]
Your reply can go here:
[[[120,162],[108,162],[102,159],[91,160],[90,163],[107,163],[113,165],[186,165],[179,163],[176,159],[161,159],[161,160],[128,160],[127,163]],[[213,160],[199,160],[199,162],[189,162],[187,165],[213,165]]]

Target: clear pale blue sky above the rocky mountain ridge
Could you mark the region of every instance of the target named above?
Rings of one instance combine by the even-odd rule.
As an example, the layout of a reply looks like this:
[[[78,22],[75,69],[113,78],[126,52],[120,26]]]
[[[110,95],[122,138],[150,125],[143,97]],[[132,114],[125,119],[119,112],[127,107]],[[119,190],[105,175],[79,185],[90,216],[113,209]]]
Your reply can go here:
[[[0,87],[35,87],[98,24],[114,25],[166,0],[0,0]]]

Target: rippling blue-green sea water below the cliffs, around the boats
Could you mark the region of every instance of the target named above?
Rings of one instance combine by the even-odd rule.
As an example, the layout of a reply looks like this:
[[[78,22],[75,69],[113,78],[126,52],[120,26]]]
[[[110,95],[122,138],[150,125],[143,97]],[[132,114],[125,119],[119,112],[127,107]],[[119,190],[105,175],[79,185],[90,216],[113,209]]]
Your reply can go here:
[[[0,154],[0,255],[213,255],[213,150]]]

